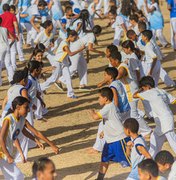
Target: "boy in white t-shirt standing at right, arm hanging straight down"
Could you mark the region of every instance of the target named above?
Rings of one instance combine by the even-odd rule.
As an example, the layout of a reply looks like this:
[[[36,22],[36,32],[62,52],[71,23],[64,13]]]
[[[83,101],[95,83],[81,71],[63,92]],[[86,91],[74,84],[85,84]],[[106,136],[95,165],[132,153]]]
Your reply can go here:
[[[155,46],[151,43],[152,36],[153,35],[150,30],[142,32],[142,41],[146,44],[144,48],[146,58],[144,74],[146,76],[152,76],[155,81],[155,85],[158,86],[161,62],[160,59],[158,59]]]

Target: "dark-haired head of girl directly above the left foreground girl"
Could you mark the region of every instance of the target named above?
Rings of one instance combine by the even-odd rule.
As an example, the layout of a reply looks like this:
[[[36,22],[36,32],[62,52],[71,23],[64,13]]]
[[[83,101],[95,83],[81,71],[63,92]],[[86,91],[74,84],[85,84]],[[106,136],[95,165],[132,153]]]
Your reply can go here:
[[[13,75],[13,80],[11,84],[21,84],[22,86],[26,86],[28,81],[28,68],[24,68],[23,70],[15,71]]]

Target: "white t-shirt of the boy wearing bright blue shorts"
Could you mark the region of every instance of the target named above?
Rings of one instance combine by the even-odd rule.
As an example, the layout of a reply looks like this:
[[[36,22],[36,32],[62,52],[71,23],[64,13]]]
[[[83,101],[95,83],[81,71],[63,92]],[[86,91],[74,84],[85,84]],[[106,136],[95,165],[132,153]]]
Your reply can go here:
[[[112,143],[126,137],[121,117],[113,102],[106,104],[98,113],[103,119],[104,137],[107,143]]]

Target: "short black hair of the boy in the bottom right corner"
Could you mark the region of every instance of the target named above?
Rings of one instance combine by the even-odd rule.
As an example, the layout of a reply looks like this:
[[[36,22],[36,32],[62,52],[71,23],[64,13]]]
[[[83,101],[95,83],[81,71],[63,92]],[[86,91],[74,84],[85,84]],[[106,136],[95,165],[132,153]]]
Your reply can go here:
[[[156,155],[155,161],[162,165],[172,165],[174,163],[174,156],[169,151],[163,150]]]

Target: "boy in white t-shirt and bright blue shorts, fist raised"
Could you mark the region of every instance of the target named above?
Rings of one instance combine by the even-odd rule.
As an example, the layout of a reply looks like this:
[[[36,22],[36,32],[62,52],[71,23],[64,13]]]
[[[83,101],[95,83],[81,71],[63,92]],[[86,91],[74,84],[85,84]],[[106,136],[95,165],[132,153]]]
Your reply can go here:
[[[90,114],[94,120],[103,119],[105,145],[103,148],[100,170],[97,179],[104,179],[109,162],[119,162],[123,167],[129,166],[130,161],[126,156],[125,143],[129,141],[126,137],[121,118],[117,108],[112,102],[113,92],[109,87],[100,89],[99,104],[104,106],[99,112],[91,110]]]

